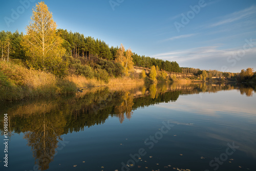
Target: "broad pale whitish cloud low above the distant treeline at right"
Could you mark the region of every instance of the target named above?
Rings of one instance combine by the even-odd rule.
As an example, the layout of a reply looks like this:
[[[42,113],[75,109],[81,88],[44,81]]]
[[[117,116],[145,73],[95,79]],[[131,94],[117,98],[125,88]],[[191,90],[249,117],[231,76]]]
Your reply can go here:
[[[255,44],[256,45],[256,44]],[[231,72],[240,72],[241,69],[248,67],[256,68],[256,46],[245,51],[245,55],[237,60],[235,66],[231,66],[230,61],[227,59],[234,54],[237,54],[241,50],[241,47],[232,49],[220,49],[220,45],[199,47],[193,49],[170,51],[166,53],[160,53],[153,55],[152,57],[160,58],[164,60],[177,61],[181,67],[193,67],[200,69],[216,69],[221,70],[222,66],[227,66]],[[247,64],[246,62],[247,61]],[[250,65],[248,65],[250,63]]]

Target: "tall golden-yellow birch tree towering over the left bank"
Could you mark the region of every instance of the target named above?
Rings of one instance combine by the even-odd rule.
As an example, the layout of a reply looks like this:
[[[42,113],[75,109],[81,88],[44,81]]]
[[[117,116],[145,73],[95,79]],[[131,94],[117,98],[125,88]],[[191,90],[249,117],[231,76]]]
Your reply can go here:
[[[65,74],[67,63],[61,58],[65,54],[61,44],[62,38],[56,34],[56,23],[52,13],[44,2],[36,4],[30,25],[27,26],[27,34],[22,42],[29,57],[27,61],[29,67],[60,76]]]

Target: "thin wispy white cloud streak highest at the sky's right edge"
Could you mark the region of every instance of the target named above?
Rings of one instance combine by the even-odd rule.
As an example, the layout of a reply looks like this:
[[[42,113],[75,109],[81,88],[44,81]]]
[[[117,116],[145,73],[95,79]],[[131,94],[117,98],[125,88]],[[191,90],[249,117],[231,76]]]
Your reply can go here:
[[[247,19],[249,17],[254,17],[255,14],[256,14],[256,6],[251,6],[250,8],[246,8],[244,10],[233,12],[231,14],[226,15],[226,16],[222,17],[224,19],[220,20],[217,23],[210,25],[209,27],[216,27],[216,26],[220,26],[220,25],[229,24],[229,23],[235,22],[237,20]]]

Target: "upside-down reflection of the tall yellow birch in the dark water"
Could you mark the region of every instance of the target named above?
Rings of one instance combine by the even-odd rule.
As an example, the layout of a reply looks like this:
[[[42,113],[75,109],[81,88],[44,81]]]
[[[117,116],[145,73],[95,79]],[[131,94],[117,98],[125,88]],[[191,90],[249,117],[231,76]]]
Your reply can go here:
[[[35,164],[46,170],[53,161],[57,143],[61,140],[66,120],[61,113],[38,113],[31,117],[29,132],[24,134],[31,146]]]

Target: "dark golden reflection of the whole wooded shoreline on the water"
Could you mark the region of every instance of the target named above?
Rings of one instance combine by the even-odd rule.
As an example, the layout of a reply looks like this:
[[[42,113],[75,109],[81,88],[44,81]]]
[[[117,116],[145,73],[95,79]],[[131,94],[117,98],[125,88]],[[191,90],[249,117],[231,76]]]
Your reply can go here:
[[[9,114],[10,133],[24,133],[31,147],[35,163],[46,170],[53,161],[62,141],[61,135],[79,132],[93,125],[103,124],[109,117],[120,123],[131,119],[134,110],[160,102],[175,102],[182,94],[238,90],[252,96],[255,88],[231,84],[151,84],[140,87],[104,87],[83,90],[75,96],[57,99],[6,102],[2,113]],[[0,124],[3,135],[3,120]]]

